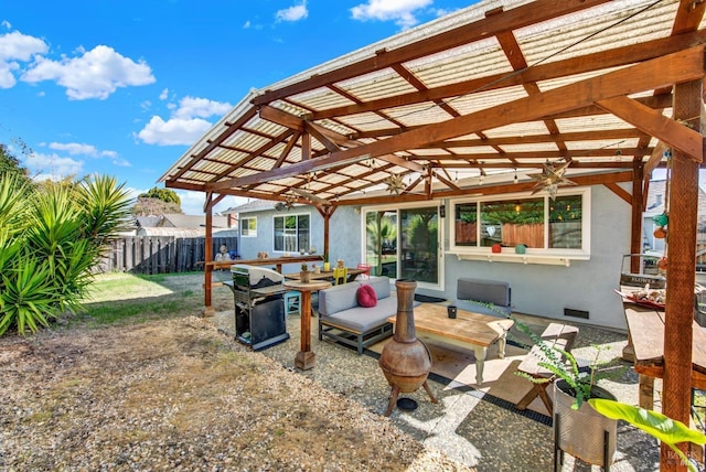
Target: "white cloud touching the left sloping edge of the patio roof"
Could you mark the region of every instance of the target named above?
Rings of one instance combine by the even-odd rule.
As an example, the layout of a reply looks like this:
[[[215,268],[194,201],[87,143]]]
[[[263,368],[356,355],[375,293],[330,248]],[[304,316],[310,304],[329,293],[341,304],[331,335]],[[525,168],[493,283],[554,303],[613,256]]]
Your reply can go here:
[[[169,104],[172,115],[168,120],[153,116],[137,137],[148,144],[192,144],[211,128],[204,118],[225,115],[232,105],[207,98],[184,97],[179,106]]]

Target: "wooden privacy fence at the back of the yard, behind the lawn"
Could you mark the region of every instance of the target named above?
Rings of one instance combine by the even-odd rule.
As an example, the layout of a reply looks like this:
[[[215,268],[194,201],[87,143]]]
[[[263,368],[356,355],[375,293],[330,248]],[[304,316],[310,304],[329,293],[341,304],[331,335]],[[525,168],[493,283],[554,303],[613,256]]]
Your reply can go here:
[[[174,236],[125,236],[113,242],[97,265],[103,272],[172,273],[203,270],[205,238]],[[236,237],[214,237],[215,257],[222,245],[237,253]],[[201,264],[197,264],[201,262]]]

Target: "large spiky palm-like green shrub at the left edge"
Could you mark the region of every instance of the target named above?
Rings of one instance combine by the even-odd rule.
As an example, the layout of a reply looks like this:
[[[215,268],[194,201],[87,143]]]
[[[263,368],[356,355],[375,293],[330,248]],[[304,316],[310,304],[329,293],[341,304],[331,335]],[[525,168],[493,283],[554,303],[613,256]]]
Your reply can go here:
[[[30,186],[0,174],[0,335],[76,311],[101,250],[129,217],[107,176]]]

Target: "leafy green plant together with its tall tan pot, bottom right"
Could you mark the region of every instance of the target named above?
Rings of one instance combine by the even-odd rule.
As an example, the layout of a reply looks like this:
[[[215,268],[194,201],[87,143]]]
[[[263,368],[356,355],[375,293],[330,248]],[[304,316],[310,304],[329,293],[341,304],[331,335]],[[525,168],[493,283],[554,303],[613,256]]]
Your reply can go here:
[[[620,375],[624,368],[610,372],[600,368],[606,363],[599,361],[601,348],[593,345],[596,355],[587,372],[579,368],[576,357],[570,352],[547,343],[518,320],[515,320],[515,325],[539,347],[544,358],[538,365],[554,374],[554,433],[558,448],[587,463],[609,465],[616,452],[618,421],[600,415],[587,400],[616,400],[612,394],[599,387],[597,383],[601,378]],[[517,375],[534,383],[552,380],[535,378],[522,372],[517,372]]]

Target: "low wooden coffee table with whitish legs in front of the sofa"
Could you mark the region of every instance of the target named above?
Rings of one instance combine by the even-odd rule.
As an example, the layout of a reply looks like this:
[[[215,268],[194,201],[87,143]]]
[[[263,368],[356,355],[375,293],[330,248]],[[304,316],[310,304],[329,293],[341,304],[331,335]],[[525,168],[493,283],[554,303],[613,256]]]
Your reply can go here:
[[[447,314],[446,305],[421,303],[415,307],[415,330],[430,337],[439,339],[448,344],[472,348],[475,354],[475,382],[483,385],[483,367],[488,356],[488,347],[498,342],[498,356],[505,356],[505,341],[507,331],[514,324],[513,320],[489,314],[473,313],[458,310],[457,318]],[[395,323],[396,317],[387,321]]]

